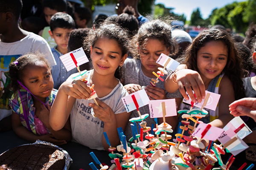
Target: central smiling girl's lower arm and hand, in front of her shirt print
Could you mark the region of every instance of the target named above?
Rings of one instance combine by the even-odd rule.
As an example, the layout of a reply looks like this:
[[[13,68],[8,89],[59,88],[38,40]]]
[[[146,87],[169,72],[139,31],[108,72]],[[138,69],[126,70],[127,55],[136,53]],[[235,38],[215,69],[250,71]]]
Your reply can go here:
[[[125,126],[130,117],[130,113],[124,112],[115,114],[113,110],[104,102],[96,99],[99,106],[90,103],[89,106],[93,108],[95,115],[104,122],[104,132],[108,134],[109,141],[112,147],[116,147],[119,144],[119,136],[117,132],[117,127],[122,127],[125,129]],[[109,146],[105,140],[105,137],[102,134],[102,145],[105,150],[108,150]]]

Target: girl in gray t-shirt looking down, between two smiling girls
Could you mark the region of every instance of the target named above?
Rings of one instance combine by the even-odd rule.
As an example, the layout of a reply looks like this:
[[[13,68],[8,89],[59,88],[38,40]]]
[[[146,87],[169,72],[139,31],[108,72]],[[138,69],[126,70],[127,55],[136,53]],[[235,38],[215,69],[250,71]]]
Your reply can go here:
[[[136,37],[139,56],[134,59],[125,59],[124,66],[122,69],[122,80],[124,82],[124,87],[129,94],[139,91],[141,88],[145,88],[149,99],[170,99],[175,98],[176,103],[179,106],[181,102],[181,94],[177,90],[175,93],[168,93],[164,89],[164,83],[159,81],[156,86],[150,85],[152,78],[156,78],[153,71],[156,73],[158,67],[163,68],[163,66],[156,63],[158,57],[161,53],[169,55],[175,52],[176,43],[172,39],[171,26],[160,21],[153,20],[151,22],[144,23],[137,34]],[[171,74],[172,72],[167,70],[167,75],[165,74],[163,79]],[[148,105],[140,108],[140,113],[149,113]],[[132,111],[130,118],[138,117],[137,111]],[[150,117],[146,118],[147,126],[151,127],[151,124],[155,124],[154,119]],[[162,123],[163,119],[159,119],[159,123]],[[175,127],[177,122],[177,117],[166,117],[166,122],[172,127]],[[132,137],[131,133],[131,122],[125,127],[125,135],[127,139]],[[138,128],[138,125],[137,125]]]

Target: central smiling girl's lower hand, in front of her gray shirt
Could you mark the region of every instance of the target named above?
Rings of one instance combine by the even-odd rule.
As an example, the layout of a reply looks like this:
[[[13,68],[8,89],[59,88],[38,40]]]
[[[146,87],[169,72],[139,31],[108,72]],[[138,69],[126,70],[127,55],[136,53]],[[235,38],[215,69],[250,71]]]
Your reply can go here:
[[[104,102],[96,98],[99,106],[94,103],[89,103],[89,106],[93,108],[95,115],[104,123],[112,123],[115,118],[113,110]]]

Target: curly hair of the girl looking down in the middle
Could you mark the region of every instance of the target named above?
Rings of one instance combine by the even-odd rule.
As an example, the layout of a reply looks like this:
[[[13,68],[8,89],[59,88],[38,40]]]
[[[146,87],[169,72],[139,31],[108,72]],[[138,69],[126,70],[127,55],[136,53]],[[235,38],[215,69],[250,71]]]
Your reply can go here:
[[[172,27],[161,20],[152,20],[140,26],[135,41],[139,46],[144,45],[148,39],[157,39],[170,49],[170,56],[178,51],[176,40],[172,38]],[[136,58],[139,58],[136,56]]]

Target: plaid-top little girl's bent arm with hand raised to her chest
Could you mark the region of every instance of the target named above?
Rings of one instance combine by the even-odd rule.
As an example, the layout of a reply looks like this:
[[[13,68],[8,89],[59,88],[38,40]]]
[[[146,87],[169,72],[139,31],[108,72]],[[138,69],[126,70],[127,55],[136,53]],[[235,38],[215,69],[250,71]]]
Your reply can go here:
[[[39,119],[41,122],[44,123],[44,125],[47,127],[47,129],[51,132],[53,137],[58,140],[65,140],[65,141],[70,141],[71,140],[71,126],[70,126],[70,119],[66,122],[65,126],[60,129],[60,130],[53,130],[52,127],[49,124],[49,111],[51,110],[51,106],[48,104],[48,109],[44,106],[41,105],[41,111],[39,114]]]

